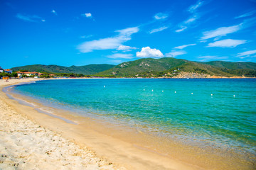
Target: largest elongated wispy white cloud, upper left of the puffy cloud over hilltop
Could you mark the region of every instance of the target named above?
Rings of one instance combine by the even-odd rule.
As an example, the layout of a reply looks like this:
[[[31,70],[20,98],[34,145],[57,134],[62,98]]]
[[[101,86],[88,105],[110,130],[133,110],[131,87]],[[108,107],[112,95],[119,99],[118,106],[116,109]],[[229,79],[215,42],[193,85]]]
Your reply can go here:
[[[78,45],[78,50],[80,50],[80,52],[92,52],[93,50],[117,49],[123,42],[131,40],[131,35],[138,31],[139,28],[137,27],[116,30],[115,32],[119,33],[117,36],[83,42],[81,45]]]

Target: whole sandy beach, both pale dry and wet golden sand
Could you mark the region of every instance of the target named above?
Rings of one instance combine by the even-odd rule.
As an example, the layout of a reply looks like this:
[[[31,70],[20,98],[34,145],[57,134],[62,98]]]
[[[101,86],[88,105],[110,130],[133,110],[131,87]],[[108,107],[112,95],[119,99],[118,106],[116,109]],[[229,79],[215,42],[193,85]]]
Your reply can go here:
[[[35,80],[0,81],[0,169],[201,169],[92,130],[86,121],[39,113],[2,91]]]

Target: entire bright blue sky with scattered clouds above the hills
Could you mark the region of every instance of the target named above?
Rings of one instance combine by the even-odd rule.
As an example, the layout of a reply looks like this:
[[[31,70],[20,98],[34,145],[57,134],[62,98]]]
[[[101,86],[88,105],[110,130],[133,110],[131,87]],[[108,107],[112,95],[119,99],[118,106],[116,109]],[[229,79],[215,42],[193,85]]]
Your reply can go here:
[[[1,0],[0,66],[256,62],[256,0]]]

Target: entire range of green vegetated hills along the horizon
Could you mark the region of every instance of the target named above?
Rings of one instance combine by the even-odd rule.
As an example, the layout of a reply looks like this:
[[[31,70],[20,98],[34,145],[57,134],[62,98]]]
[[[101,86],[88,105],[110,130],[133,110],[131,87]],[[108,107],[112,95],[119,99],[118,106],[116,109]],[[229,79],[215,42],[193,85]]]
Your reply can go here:
[[[256,77],[254,62],[191,62],[188,60],[164,57],[160,59],[143,58],[111,64],[90,64],[86,66],[63,67],[58,65],[28,65],[12,68],[16,71],[41,72],[43,77],[176,77],[181,72],[191,72],[218,77]]]

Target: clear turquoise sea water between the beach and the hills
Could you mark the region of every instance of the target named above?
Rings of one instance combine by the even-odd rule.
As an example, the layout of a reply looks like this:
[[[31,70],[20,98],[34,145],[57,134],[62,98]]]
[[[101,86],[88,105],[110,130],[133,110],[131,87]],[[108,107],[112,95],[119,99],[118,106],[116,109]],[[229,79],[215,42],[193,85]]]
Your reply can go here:
[[[256,79],[66,79],[12,91],[85,117],[256,156]]]

